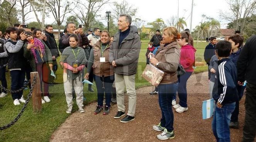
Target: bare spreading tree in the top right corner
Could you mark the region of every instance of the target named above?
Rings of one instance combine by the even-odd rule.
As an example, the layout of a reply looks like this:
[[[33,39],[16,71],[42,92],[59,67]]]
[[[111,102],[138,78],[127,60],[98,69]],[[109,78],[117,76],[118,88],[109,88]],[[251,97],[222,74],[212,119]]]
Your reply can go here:
[[[220,10],[220,18],[234,22],[234,28],[241,32],[246,28],[248,17],[256,13],[256,0],[228,0],[228,11]]]

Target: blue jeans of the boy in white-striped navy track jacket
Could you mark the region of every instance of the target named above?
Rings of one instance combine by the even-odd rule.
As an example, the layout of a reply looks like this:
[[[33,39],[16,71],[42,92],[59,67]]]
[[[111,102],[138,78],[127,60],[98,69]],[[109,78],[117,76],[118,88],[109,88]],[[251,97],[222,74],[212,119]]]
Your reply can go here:
[[[215,107],[212,120],[212,131],[217,142],[230,142],[229,123],[236,102],[225,104],[222,108]]]

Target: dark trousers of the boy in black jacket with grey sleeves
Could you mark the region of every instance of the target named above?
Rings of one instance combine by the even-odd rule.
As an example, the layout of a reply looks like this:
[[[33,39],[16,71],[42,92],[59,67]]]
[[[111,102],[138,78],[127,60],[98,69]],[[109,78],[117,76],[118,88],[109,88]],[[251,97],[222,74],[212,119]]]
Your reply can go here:
[[[12,70],[11,74],[11,90],[16,91],[24,86],[25,71],[22,70]],[[12,93],[12,99],[20,99],[23,94],[23,90],[17,93]]]

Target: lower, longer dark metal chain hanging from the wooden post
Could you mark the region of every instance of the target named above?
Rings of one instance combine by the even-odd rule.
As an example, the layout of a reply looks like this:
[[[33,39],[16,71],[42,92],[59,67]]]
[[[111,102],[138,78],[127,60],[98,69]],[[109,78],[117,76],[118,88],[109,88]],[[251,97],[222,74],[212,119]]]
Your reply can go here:
[[[27,95],[27,99],[26,99],[26,102],[24,104],[24,106],[22,107],[20,113],[18,114],[17,117],[14,118],[14,120],[12,122],[10,122],[9,124],[7,125],[4,125],[3,127],[0,127],[0,130],[4,130],[4,129],[7,129],[9,127],[11,127],[12,125],[15,124],[15,122],[18,121],[18,119],[20,118],[20,116],[22,115],[22,113],[25,111],[25,108],[27,107],[27,104],[29,103],[29,99],[31,98],[32,96],[32,92],[33,92],[33,88],[34,88],[34,84],[36,83],[36,76],[34,76],[34,79],[33,79],[33,83],[31,84],[31,89],[29,91],[29,94]]]

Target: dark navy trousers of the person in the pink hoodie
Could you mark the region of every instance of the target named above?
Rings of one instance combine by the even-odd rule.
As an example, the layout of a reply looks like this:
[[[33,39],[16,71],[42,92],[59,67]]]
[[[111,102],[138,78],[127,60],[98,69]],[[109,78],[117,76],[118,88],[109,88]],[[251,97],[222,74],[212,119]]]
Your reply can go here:
[[[187,91],[186,91],[186,82],[188,81],[188,78],[191,76],[192,72],[186,72],[180,78],[179,80],[179,87],[178,87],[178,96],[180,99],[180,106],[181,107],[188,107],[187,101]],[[173,99],[176,100],[176,93],[173,96]]]

